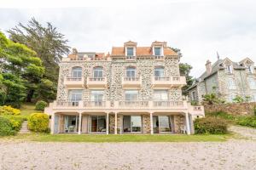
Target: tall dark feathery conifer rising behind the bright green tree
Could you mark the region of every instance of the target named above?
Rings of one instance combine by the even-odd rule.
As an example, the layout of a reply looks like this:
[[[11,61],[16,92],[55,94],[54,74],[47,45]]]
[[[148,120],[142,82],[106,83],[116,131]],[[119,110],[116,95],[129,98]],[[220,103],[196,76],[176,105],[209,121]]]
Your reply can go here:
[[[18,26],[8,32],[11,40],[25,44],[28,48],[37,52],[45,68],[44,80],[48,79],[49,82],[53,82],[50,88],[54,89],[54,94],[56,94],[58,63],[61,61],[63,54],[69,53],[68,41],[64,35],[49,22],[47,26],[42,26],[34,18],[28,21],[27,26],[19,23]]]

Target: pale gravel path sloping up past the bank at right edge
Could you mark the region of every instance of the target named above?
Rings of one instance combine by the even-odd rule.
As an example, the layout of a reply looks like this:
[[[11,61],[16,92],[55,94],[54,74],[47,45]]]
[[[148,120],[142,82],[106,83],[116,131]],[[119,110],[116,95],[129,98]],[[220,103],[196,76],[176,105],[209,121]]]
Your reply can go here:
[[[256,128],[231,126],[229,130],[244,138],[256,140]]]

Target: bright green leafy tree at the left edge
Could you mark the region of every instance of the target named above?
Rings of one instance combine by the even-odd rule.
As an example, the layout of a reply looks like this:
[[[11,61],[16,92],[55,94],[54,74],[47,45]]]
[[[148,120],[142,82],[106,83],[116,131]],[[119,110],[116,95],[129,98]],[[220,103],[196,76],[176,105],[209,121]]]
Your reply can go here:
[[[44,66],[35,51],[25,45],[12,42],[0,32],[1,101],[2,104],[19,106],[32,99],[38,83],[44,75]]]

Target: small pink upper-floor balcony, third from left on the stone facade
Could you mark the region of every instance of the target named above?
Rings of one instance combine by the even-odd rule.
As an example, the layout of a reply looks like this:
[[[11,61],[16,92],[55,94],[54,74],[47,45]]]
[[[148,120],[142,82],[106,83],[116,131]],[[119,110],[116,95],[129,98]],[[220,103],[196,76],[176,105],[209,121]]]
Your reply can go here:
[[[122,78],[122,87],[129,89],[138,89],[141,88],[142,77],[123,77]]]

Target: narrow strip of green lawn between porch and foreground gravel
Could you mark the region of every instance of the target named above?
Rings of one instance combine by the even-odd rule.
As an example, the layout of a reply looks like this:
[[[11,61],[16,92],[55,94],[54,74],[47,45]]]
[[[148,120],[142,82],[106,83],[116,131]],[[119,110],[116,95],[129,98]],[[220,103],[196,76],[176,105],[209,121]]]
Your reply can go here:
[[[30,140],[38,142],[223,142],[232,137],[231,134],[225,135],[150,135],[150,134],[18,134],[2,139]],[[1,138],[0,138],[1,139]]]

